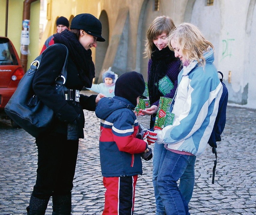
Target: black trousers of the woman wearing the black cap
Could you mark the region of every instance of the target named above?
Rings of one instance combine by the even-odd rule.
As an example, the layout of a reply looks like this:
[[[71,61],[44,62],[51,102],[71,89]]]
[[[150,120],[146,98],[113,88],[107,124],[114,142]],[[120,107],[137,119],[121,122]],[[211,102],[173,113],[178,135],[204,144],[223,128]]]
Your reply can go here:
[[[36,138],[38,169],[32,196],[49,199],[53,195],[69,195],[73,188],[78,154],[78,140],[65,135],[43,135]]]

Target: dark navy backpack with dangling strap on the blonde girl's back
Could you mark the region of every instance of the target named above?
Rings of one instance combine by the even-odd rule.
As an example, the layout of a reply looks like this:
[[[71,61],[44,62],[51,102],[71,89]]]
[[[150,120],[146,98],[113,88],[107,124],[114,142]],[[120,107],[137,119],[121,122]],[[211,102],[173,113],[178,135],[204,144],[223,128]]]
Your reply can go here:
[[[209,138],[208,144],[212,147],[212,153],[215,154],[215,161],[214,166],[212,169],[212,184],[214,184],[214,178],[215,178],[215,168],[217,165],[217,143],[221,141],[221,134],[224,130],[225,124],[226,124],[226,110],[227,110],[227,100],[228,100],[228,91],[226,85],[222,82],[223,80],[223,74],[222,72],[218,71],[219,74],[221,74],[221,84],[223,86],[223,91],[221,94],[221,99],[219,102],[218,107],[218,113],[215,119],[215,123],[212,129],[212,134]]]

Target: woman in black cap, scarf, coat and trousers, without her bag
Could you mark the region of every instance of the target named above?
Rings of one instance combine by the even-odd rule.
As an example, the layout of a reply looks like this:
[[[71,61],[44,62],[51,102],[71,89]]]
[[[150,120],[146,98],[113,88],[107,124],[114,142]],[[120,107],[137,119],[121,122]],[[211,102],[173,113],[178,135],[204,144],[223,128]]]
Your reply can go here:
[[[75,174],[79,138],[84,138],[83,109],[95,111],[102,94],[79,95],[83,87],[90,88],[95,77],[91,47],[101,36],[102,25],[91,14],[79,14],[71,22],[70,31],[54,35],[55,44],[69,50],[65,86],[69,97],[63,98],[54,89],[66,58],[66,48],[54,45],[43,53],[35,74],[33,89],[38,98],[53,109],[56,118],[51,127],[35,139],[38,148],[36,183],[27,207],[28,214],[45,214],[52,196],[53,215],[71,214],[71,190]]]

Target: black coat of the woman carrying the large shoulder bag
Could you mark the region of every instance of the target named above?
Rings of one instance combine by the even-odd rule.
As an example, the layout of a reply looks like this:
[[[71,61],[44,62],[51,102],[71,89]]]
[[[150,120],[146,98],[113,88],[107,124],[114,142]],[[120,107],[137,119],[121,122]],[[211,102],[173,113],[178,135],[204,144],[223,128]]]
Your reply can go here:
[[[66,48],[62,45],[54,45],[48,48],[42,56],[40,66],[35,73],[33,90],[35,95],[51,108],[55,114],[52,126],[47,133],[67,134],[67,124],[80,119],[78,130],[83,132],[84,112],[83,109],[95,111],[95,99],[97,95],[80,94],[80,102],[66,101],[63,95],[54,89],[54,82],[59,76],[66,59]],[[78,68],[69,56],[67,64],[67,78],[65,86],[68,89],[81,90],[84,87],[78,73]],[[80,117],[78,115],[80,114]]]

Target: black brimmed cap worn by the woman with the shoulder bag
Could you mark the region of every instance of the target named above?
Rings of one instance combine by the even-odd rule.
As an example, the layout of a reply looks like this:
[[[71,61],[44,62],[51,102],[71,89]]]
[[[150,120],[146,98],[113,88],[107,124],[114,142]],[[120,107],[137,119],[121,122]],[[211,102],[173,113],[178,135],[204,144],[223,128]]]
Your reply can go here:
[[[83,29],[87,34],[97,37],[97,41],[105,42],[101,36],[101,22],[92,14],[78,14],[72,21],[70,29]]]

